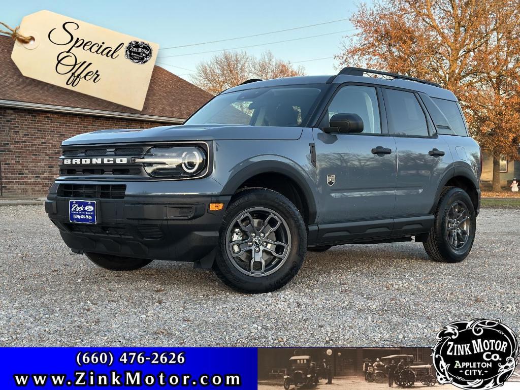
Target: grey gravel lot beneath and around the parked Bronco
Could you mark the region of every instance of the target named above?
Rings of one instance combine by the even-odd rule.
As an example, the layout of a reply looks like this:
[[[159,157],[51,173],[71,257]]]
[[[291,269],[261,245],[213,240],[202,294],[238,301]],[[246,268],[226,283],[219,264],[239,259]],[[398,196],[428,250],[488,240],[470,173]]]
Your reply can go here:
[[[446,323],[520,331],[520,210],[484,209],[471,255],[421,244],[309,253],[280,291],[244,295],[211,271],[153,262],[113,272],[73,254],[42,206],[0,207],[0,345],[431,346]]]

